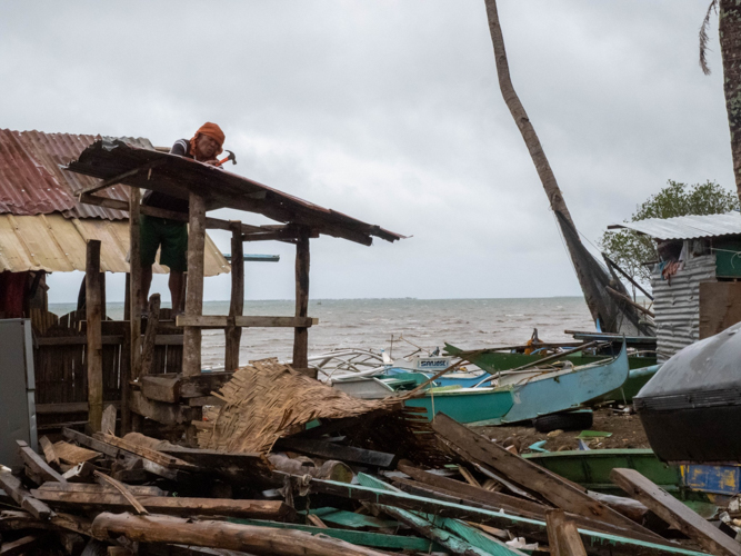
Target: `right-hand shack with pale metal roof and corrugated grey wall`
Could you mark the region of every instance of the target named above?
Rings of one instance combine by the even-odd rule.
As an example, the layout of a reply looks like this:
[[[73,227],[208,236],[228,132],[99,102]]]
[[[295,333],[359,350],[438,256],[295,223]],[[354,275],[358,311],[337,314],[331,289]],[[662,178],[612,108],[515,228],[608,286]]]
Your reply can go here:
[[[741,321],[741,215],[622,222],[653,238],[661,260],[651,274],[659,360]]]

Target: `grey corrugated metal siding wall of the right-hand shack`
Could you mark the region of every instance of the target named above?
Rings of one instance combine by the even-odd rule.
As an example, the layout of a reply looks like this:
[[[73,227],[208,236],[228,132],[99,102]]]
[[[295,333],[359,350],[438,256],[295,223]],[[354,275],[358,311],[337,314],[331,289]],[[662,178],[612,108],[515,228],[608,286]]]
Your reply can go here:
[[[700,282],[715,279],[715,256],[694,257],[669,281],[654,270],[651,287],[657,315],[659,361],[700,338]]]

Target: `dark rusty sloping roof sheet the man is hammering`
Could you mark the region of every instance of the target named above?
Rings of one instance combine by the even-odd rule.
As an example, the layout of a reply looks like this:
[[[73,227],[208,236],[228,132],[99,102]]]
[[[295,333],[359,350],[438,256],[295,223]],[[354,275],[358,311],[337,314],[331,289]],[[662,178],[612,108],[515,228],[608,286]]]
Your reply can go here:
[[[122,177],[121,182],[183,199],[188,198],[189,191],[194,191],[206,197],[207,210],[224,207],[247,210],[363,245],[371,245],[373,236],[387,241],[403,238],[379,226],[319,207],[242,176],[120,140],[96,141],[68,166],[73,172],[101,179],[116,178],[141,168],[146,168],[146,171]]]

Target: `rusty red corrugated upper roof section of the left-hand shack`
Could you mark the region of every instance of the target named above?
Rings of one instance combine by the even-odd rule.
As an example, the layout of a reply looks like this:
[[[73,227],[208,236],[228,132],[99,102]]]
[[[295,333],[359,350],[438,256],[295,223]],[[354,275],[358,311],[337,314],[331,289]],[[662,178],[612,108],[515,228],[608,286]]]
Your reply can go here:
[[[48,215],[69,218],[128,218],[120,210],[83,205],[77,193],[97,183],[97,178],[62,170],[100,136],[43,133],[0,129],[0,212]],[[129,143],[152,149],[148,139],[124,138]],[[129,200],[129,188],[111,187],[100,195]]]

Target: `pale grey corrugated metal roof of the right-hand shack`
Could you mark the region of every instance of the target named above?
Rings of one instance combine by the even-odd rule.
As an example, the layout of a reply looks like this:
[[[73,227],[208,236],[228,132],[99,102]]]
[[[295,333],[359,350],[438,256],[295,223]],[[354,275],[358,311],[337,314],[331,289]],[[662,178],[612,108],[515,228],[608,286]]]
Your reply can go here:
[[[657,239],[694,239],[741,235],[741,214],[688,215],[621,222],[610,228],[628,228]]]

